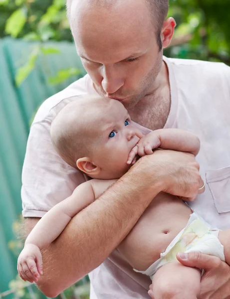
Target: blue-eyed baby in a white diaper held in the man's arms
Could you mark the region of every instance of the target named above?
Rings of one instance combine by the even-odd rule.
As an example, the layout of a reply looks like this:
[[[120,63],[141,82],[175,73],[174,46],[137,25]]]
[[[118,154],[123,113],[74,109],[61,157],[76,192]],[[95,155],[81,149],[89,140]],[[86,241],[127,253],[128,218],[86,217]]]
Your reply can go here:
[[[23,280],[42,275],[40,250],[54,241],[83,208],[126,173],[138,157],[153,149],[173,149],[196,155],[199,139],[179,129],[156,130],[143,136],[124,106],[106,98],[78,97],[54,119],[50,136],[58,154],[92,179],[49,210],[28,235],[18,257]],[[203,252],[230,264],[230,230],[211,228],[177,196],[159,193],[129,235],[118,246],[134,271],[151,277],[154,299],[165,298],[163,285],[173,285],[167,298],[195,299],[201,271],[181,265],[178,252]]]

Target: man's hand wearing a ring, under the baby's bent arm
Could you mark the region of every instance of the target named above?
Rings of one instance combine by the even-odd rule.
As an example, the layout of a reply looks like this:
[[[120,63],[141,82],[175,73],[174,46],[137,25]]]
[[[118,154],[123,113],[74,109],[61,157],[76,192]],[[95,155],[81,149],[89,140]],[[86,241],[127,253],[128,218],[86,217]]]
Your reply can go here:
[[[180,196],[183,200],[193,200],[198,193],[205,191],[199,168],[191,153],[156,149],[153,154],[140,158],[131,170],[138,170],[139,179],[143,177],[145,182],[155,179],[163,192]]]

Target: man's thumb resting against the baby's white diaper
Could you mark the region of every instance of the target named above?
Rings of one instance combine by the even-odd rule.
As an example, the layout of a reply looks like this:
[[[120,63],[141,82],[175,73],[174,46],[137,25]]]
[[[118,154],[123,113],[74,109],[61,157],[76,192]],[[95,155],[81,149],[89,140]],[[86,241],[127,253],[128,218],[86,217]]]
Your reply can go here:
[[[219,267],[221,264],[219,258],[200,252],[178,253],[177,259],[185,266],[204,269],[206,272]]]

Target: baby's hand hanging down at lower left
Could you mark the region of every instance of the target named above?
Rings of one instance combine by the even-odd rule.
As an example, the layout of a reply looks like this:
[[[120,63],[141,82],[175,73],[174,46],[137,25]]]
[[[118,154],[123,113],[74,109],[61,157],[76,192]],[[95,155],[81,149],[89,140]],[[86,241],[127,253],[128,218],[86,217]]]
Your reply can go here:
[[[26,244],[17,259],[17,271],[23,281],[37,282],[42,272],[40,249],[34,244]]]

